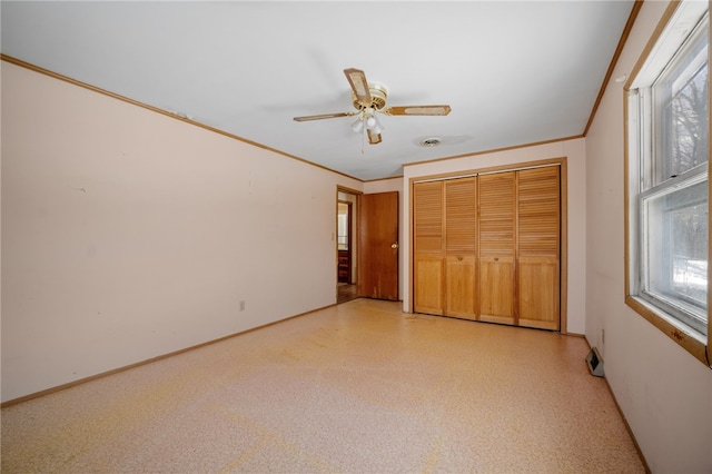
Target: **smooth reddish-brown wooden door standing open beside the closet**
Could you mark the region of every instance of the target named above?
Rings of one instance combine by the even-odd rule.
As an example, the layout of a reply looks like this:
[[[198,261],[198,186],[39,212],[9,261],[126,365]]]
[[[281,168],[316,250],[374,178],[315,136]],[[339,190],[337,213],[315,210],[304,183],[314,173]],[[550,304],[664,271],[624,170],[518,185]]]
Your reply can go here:
[[[362,195],[358,295],[398,299],[398,192]]]

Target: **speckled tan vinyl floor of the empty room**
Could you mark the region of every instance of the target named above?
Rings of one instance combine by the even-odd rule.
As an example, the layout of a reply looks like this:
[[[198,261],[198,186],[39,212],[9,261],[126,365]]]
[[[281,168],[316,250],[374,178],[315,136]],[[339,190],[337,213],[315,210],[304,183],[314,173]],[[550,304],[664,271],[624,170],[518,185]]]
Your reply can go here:
[[[644,472],[581,337],[356,299],[2,409],[2,473]]]

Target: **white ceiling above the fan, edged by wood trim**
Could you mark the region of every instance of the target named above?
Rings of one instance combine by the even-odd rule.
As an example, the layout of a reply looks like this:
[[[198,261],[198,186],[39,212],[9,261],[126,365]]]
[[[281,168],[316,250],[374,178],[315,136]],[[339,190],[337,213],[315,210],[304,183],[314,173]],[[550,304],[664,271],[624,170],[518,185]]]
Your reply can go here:
[[[2,1],[2,53],[358,179],[584,132],[632,1]],[[343,70],[385,85],[362,145]],[[419,146],[438,137],[438,147]],[[362,154],[362,148],[364,148]]]

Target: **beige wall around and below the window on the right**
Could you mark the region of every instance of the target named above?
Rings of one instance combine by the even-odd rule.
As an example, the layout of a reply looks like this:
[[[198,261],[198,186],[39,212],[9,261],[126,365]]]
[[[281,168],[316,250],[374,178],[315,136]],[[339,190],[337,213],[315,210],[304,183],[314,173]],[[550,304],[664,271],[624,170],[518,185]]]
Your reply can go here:
[[[645,2],[613,78],[629,73],[666,2]],[[712,371],[623,303],[623,85],[586,138],[586,338],[653,472],[712,472]],[[605,330],[605,343],[602,332]]]

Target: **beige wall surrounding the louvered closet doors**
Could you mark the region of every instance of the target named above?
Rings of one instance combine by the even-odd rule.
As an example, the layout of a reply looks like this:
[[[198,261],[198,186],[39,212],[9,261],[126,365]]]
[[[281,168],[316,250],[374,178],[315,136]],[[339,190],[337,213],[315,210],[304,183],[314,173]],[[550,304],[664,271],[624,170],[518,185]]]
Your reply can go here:
[[[513,166],[527,161],[566,157],[567,201],[568,201],[568,292],[567,292],[567,330],[583,334],[585,330],[585,248],[586,248],[586,180],[584,139],[556,141],[546,145],[517,148],[506,151],[474,155],[451,160],[412,165],[405,168],[404,215],[409,219],[409,187],[412,178],[444,174],[467,172],[497,166]],[[409,224],[404,226],[402,254],[406,256],[404,273],[408,275],[409,259]],[[406,286],[403,298],[404,308],[411,307],[411,288]]]

